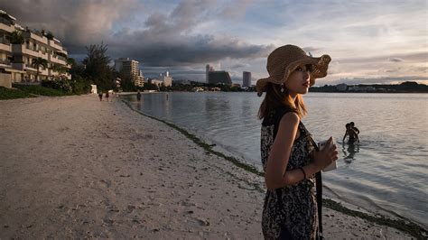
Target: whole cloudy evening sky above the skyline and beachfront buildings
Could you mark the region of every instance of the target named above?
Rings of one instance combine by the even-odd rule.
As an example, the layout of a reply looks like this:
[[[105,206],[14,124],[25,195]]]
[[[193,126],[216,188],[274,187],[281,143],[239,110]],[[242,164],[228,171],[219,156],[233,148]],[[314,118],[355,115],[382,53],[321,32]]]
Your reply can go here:
[[[51,31],[69,56],[107,44],[111,59],[140,62],[144,77],[205,81],[205,66],[242,83],[265,78],[266,58],[294,44],[329,54],[325,84],[428,84],[427,0],[0,0],[16,23]]]

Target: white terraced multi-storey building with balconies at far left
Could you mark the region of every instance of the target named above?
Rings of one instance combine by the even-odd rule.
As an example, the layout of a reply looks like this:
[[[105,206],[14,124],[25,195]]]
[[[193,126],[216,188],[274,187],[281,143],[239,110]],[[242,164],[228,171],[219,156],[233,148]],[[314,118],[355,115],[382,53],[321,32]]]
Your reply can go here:
[[[0,86],[40,82],[42,79],[71,79],[68,52],[51,33],[24,29],[16,18],[0,10]],[[37,62],[45,61],[46,67]]]

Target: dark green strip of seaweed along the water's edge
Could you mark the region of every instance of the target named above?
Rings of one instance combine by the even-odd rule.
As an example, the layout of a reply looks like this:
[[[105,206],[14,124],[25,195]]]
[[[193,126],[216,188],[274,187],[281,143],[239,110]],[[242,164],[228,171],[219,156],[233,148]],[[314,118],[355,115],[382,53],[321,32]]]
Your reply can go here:
[[[172,123],[165,121],[163,119],[160,119],[154,115],[147,115],[143,112],[137,111],[133,108],[133,106],[131,106],[131,103],[129,101],[126,101],[123,98],[121,98],[121,100],[122,100],[122,102],[124,102],[126,104],[126,106],[128,106],[130,109],[132,109],[136,113],[138,113],[140,115],[144,115],[146,117],[150,117],[156,121],[162,122],[163,124],[168,125],[168,126],[174,128],[175,130],[179,131],[181,134],[184,134],[191,141],[198,144],[206,152],[218,155],[219,157],[224,158],[228,162],[232,162],[237,167],[239,167],[245,171],[249,171],[253,174],[256,174],[259,177],[264,176],[264,173],[262,171],[259,171],[255,166],[251,165],[250,163],[242,162],[234,156],[228,156],[223,152],[213,150],[213,145],[205,143],[203,140],[200,139],[200,137],[196,136],[195,134],[191,134],[189,131],[182,128],[181,126],[172,124]],[[262,193],[265,193],[265,190],[260,188],[259,186],[257,186],[256,189],[260,190]],[[345,205],[351,205],[351,206],[354,206],[356,208],[360,208],[360,207],[358,207],[354,204],[351,204],[351,203],[346,203],[346,202],[341,203],[337,199],[322,198],[323,208],[330,208],[332,210],[339,211],[340,213],[343,213],[343,214],[346,214],[346,215],[349,215],[352,217],[359,217],[359,218],[368,220],[368,221],[375,223],[375,224],[380,224],[383,226],[391,226],[391,227],[394,227],[398,230],[404,231],[407,234],[414,235],[415,237],[418,237],[418,238],[423,238],[423,237],[426,237],[428,235],[427,230],[424,229],[420,223],[416,223],[416,222],[414,222],[414,221],[412,221],[406,217],[400,216],[397,213],[395,213],[394,211],[389,210],[388,212],[391,215],[394,215],[396,219],[394,219],[393,217],[386,217],[386,216],[378,215],[375,213],[361,212],[361,211],[358,211],[355,209],[347,208],[346,206],[344,206],[344,204]]]

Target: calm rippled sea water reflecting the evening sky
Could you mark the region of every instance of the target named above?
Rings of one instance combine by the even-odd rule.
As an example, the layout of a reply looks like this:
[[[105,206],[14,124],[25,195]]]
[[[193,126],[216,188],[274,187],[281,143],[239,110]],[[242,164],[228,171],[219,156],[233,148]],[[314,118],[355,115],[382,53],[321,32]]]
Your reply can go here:
[[[256,93],[144,94],[132,106],[217,144],[261,170]],[[323,174],[327,197],[428,226],[428,95],[309,93],[302,122],[315,141],[338,144],[338,169]],[[355,122],[360,144],[342,143]]]

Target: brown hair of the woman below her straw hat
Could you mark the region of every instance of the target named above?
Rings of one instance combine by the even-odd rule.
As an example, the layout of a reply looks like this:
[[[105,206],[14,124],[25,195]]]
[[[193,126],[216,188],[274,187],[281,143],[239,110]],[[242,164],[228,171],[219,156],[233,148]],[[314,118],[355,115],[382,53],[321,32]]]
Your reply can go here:
[[[293,104],[289,97],[287,88],[284,88],[284,92],[281,92],[280,85],[268,82],[265,89],[265,99],[263,99],[263,102],[258,109],[258,117],[260,119],[265,118],[266,115],[268,115],[278,106],[291,107],[293,111],[301,118],[303,115],[306,115],[306,106],[304,106],[303,98],[300,94],[297,95]]]

